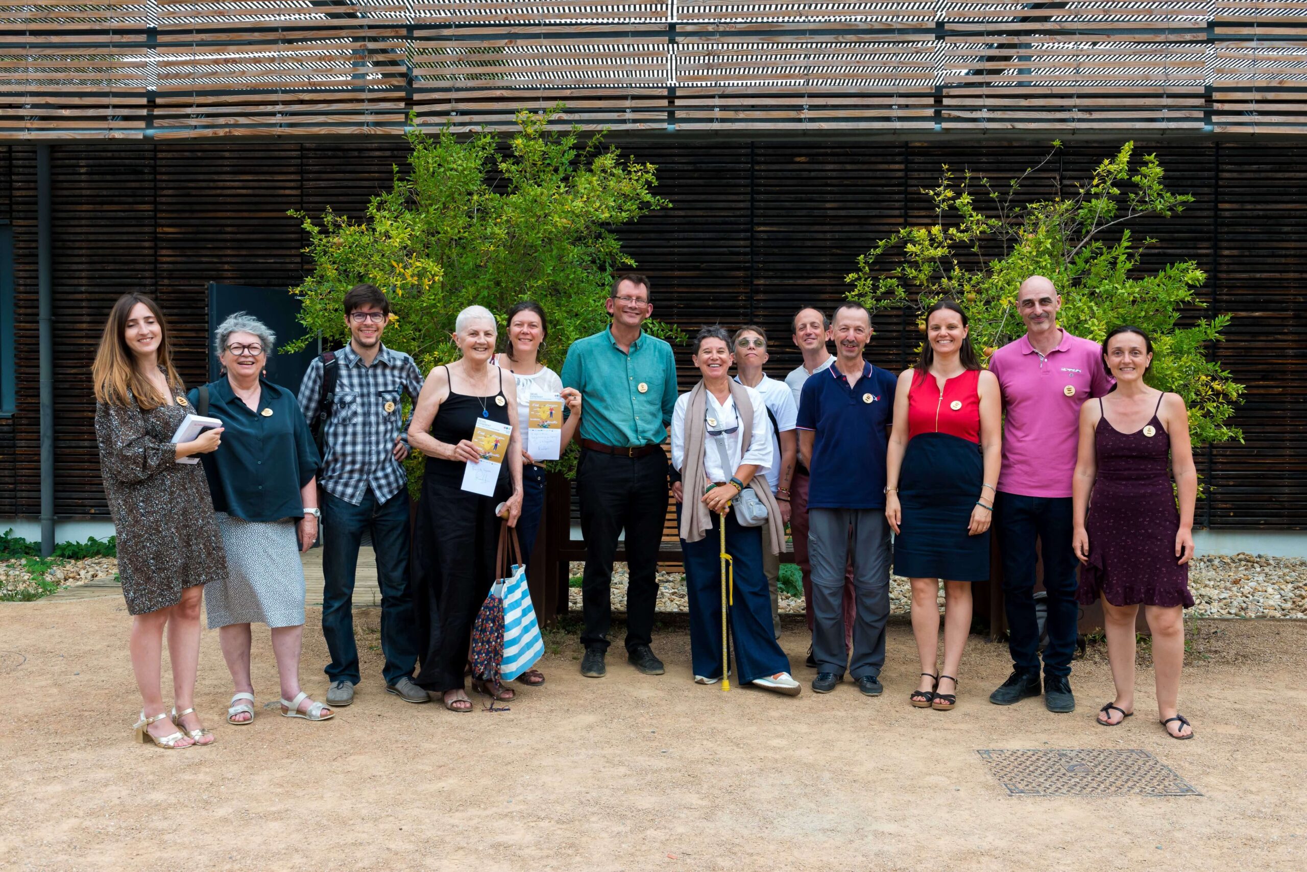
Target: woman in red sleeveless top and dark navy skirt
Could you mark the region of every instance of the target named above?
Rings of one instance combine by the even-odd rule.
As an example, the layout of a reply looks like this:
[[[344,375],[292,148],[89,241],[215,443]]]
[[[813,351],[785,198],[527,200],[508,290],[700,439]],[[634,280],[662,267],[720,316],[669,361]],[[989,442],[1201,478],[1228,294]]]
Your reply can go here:
[[[927,311],[927,341],[894,393],[885,461],[894,572],[912,580],[912,633],[921,655],[911,702],[941,711],[957,705],[954,676],[971,631],[970,582],[989,578],[989,517],[1001,459],[999,380],[980,368],[967,333],[967,316],[953,300]],[[944,668],[936,674],[940,581]]]

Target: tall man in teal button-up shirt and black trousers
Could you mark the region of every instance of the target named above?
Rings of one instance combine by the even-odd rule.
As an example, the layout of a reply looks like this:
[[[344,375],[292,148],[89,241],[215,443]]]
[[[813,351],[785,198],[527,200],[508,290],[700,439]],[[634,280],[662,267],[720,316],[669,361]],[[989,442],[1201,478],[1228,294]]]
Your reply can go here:
[[[605,672],[610,585],[617,539],[626,530],[626,657],[646,675],[663,675],[650,647],[657,600],[657,553],[667,520],[667,454],[663,440],[676,406],[672,346],[640,329],[654,312],[650,283],[629,274],[613,283],[604,307],[613,322],[571,345],[565,390],[582,396],[576,495],[586,539],[582,602],[586,657],[580,674]]]

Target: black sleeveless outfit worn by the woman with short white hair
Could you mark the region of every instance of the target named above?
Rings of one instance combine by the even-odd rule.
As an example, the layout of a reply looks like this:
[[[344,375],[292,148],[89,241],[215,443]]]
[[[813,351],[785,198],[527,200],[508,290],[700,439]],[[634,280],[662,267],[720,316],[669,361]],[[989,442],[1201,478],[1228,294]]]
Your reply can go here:
[[[478,420],[511,424],[511,414],[501,372],[499,390],[490,397],[451,389],[429,432],[452,445],[472,439]],[[464,491],[464,469],[463,461],[426,458],[413,531],[413,614],[420,653],[414,680],[437,693],[464,687],[472,624],[495,582],[501,520],[494,509],[511,492],[507,463],[499,469],[494,496]]]

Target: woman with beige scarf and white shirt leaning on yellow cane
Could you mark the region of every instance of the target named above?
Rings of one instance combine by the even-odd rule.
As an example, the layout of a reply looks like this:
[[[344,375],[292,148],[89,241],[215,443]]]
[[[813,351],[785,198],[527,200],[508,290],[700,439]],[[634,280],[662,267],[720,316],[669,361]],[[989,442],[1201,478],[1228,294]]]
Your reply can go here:
[[[725,523],[727,553],[733,559],[735,595],[729,610],[736,670],[742,684],[797,696],[789,659],[771,625],[771,598],[762,568],[762,527],[741,526],[732,506],[746,488],[767,510],[775,548],[784,525],[766,478],[754,475],[771,465],[767,410],[753,388],[731,379],[731,339],[719,326],[694,338],[699,384],[681,394],[672,413],[672,466],[681,482],[672,486],[685,555],[685,587],[690,603],[690,657],[697,684],[721,680],[721,567],[719,523]]]

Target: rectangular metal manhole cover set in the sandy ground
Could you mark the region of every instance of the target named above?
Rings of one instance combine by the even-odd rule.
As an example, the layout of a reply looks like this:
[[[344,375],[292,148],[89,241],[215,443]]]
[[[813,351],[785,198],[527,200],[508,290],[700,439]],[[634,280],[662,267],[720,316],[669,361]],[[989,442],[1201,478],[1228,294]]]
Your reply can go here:
[[[1138,748],[976,751],[1012,796],[1201,796]]]

